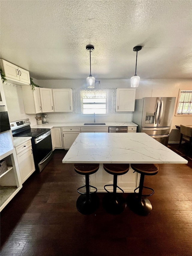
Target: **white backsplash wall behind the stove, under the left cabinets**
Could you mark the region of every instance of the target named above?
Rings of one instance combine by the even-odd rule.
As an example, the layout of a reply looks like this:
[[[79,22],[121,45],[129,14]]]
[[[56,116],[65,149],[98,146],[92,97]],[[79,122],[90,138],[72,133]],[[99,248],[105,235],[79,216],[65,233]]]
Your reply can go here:
[[[35,114],[25,113],[21,86],[5,82],[3,89],[10,122],[29,118],[31,126],[36,125],[37,120],[35,119]]]

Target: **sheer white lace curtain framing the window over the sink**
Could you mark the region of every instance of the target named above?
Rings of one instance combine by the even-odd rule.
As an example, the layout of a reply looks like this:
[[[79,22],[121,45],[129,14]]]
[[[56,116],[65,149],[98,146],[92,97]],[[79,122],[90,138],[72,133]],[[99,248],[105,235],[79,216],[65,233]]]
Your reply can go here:
[[[77,114],[82,113],[82,98],[106,98],[107,97],[107,114],[115,113],[116,91],[117,91],[117,88],[103,88],[103,89],[72,88],[73,112]]]

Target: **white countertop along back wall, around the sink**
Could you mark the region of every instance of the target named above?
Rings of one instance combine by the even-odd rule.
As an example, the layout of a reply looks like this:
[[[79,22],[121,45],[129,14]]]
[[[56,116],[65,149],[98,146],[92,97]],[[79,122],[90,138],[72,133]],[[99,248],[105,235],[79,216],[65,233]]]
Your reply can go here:
[[[83,126],[83,127],[95,127],[95,126],[138,126],[133,122],[105,122],[105,125],[84,125],[84,123],[91,123],[91,122],[52,122],[49,124],[42,124],[42,125],[34,125],[32,128],[53,128],[53,127],[67,127],[67,126]],[[96,122],[97,123],[97,122]]]

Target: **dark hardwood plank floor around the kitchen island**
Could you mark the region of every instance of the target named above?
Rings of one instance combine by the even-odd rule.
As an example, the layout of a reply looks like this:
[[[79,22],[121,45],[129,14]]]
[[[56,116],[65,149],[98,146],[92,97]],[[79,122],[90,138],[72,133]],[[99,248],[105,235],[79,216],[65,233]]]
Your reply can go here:
[[[184,156],[183,148],[169,146]],[[1,212],[1,256],[192,255],[192,158],[188,164],[159,164],[157,175],[145,177],[144,185],[155,190],[150,215],[129,208],[110,215],[102,205],[82,215],[76,189],[84,178],[73,164],[62,164],[65,153],[55,150]]]

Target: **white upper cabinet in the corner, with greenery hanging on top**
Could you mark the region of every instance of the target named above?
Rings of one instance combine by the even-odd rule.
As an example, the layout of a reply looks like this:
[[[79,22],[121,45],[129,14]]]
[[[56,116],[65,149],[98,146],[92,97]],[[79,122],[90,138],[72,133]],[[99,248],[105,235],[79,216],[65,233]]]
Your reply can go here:
[[[42,112],[39,87],[22,86],[22,97],[26,114],[37,114]]]

